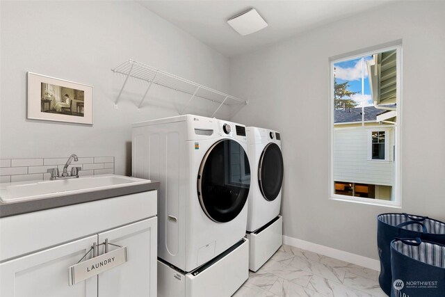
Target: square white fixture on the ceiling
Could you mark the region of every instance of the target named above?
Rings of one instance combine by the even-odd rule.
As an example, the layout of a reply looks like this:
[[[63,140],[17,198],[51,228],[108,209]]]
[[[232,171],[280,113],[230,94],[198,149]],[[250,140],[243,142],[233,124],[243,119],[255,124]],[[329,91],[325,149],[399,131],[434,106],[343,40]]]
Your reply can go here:
[[[241,35],[249,35],[268,26],[255,8],[250,8],[239,15],[235,15],[227,23]]]

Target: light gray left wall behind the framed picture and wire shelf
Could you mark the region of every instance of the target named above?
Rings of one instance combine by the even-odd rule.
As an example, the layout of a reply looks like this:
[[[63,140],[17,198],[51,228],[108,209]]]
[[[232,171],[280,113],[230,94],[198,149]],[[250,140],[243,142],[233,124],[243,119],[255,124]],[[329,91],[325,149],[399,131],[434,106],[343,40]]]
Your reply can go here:
[[[153,88],[138,112],[147,84],[132,81],[114,109],[124,77],[111,68],[129,58],[228,92],[225,56],[135,1],[1,1],[0,10],[0,159],[115,156],[115,173],[130,174],[131,123],[177,115],[188,97]],[[26,120],[28,71],[92,85],[94,125]]]

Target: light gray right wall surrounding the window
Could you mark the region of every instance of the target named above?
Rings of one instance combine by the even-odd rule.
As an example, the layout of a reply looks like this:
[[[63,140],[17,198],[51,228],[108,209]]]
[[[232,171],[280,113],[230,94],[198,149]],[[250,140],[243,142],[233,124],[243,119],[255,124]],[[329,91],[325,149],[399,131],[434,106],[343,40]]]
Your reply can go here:
[[[250,100],[234,121],[282,132],[284,235],[378,259],[378,214],[445,220],[444,11],[444,2],[395,3],[232,59],[232,93]],[[328,60],[399,39],[403,209],[328,200]]]

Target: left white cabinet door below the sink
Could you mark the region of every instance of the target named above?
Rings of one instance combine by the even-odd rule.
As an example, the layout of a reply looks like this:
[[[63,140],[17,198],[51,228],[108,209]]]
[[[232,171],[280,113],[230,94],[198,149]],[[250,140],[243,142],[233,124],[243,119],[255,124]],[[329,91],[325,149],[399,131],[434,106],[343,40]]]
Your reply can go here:
[[[97,296],[97,277],[71,287],[68,284],[68,267],[79,262],[93,242],[97,242],[97,235],[0,264],[0,296]],[[86,259],[90,257],[88,255]]]

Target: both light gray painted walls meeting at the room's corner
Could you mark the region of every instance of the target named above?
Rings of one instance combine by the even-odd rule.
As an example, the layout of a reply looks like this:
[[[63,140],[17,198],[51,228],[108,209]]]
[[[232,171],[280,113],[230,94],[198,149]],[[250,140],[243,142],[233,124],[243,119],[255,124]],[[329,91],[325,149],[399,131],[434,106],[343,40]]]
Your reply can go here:
[[[399,210],[328,200],[328,58],[402,39],[402,211],[445,220],[445,3],[396,3],[231,61],[133,1],[0,10],[1,159],[115,156],[115,172],[129,174],[131,122],[181,110],[176,93],[155,89],[138,112],[141,83],[114,109],[123,78],[111,68],[133,58],[249,99],[234,120],[282,132],[284,234],[375,259],[375,216]],[[26,120],[27,71],[94,86],[95,125]]]

